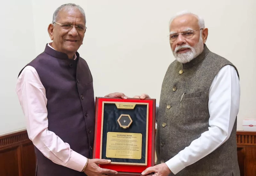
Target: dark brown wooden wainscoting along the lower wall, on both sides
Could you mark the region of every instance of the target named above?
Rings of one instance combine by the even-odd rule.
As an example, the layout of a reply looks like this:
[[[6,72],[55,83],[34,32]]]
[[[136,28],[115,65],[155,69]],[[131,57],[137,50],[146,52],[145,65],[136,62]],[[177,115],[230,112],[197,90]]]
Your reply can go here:
[[[237,131],[241,176],[256,176],[256,132]],[[36,156],[27,131],[0,136],[0,176],[35,176]]]

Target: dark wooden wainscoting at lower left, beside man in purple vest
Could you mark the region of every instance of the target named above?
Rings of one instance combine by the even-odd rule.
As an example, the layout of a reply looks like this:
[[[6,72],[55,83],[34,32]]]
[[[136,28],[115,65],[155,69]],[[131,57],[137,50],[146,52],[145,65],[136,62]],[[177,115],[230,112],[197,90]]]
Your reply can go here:
[[[27,131],[0,137],[0,176],[35,176],[36,156]]]

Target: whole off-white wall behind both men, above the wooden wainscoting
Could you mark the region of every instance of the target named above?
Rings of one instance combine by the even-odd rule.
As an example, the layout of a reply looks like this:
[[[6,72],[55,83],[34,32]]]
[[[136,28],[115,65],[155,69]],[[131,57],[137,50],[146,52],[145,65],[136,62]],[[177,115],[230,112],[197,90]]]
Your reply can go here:
[[[1,86],[0,94],[0,134],[25,128],[15,93],[17,74],[22,66],[44,51],[45,44],[50,42],[47,27],[54,10],[69,2],[23,0],[21,4],[11,0],[8,4],[15,4],[15,10],[6,7],[0,12],[6,16],[0,28],[5,34],[1,43],[4,51],[1,52],[4,60],[1,82],[5,85]],[[180,3],[74,0],[72,3],[80,4],[86,12],[88,29],[78,52],[91,68],[95,96],[110,92],[124,92],[128,96],[148,93],[158,102],[165,71],[174,60],[167,37],[168,22],[172,15],[185,9],[204,18],[209,28],[208,48],[238,68],[241,101],[237,129],[242,129],[243,119],[256,118],[254,0],[243,3],[237,0],[184,0]]]

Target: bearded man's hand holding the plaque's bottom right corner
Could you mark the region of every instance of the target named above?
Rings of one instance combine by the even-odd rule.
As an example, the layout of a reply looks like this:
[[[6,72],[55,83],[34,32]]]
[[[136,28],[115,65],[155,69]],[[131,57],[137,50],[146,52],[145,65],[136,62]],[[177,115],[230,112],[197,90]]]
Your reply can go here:
[[[143,176],[168,176],[171,172],[169,167],[165,164],[157,164],[153,167],[148,167],[145,169],[141,175]]]

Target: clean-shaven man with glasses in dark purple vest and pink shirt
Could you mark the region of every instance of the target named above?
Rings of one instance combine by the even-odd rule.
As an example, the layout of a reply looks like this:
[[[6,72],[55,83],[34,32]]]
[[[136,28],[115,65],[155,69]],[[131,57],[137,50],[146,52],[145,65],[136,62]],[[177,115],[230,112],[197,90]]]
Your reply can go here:
[[[52,43],[19,73],[16,92],[36,152],[37,176],[116,174],[92,158],[95,101],[93,81],[78,48],[86,32],[84,10],[61,5],[48,33]],[[122,93],[107,97],[125,98]]]

